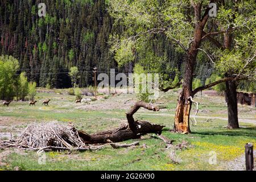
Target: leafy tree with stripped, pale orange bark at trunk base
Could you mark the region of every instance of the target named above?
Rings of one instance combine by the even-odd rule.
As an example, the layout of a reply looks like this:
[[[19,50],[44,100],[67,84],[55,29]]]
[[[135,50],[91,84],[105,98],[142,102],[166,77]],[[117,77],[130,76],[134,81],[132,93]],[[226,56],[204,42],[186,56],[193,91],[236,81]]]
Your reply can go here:
[[[189,113],[193,98],[197,92],[210,88],[224,81],[234,80],[236,76],[222,78],[221,80],[192,89],[194,67],[197,63],[197,54],[205,44],[218,44],[219,42],[212,36],[224,34],[226,31],[216,28],[215,18],[209,17],[209,3],[216,3],[217,6],[223,5],[225,1],[177,1],[177,0],[113,0],[109,1],[109,12],[115,18],[115,23],[121,24],[124,30],[121,36],[114,36],[113,52],[118,63],[123,61],[133,61],[134,52],[148,39],[156,34],[163,34],[171,42],[176,43],[176,49],[185,53],[183,75],[183,87],[179,95],[176,106],[174,130],[181,133],[189,133]],[[243,14],[243,7],[241,9]],[[246,16],[246,15],[245,15]],[[245,21],[245,16],[241,20]],[[247,15],[248,16],[248,15]],[[222,18],[225,22],[225,18]],[[250,18],[249,18],[250,19]],[[230,26],[229,32],[233,32],[240,27]],[[220,47],[218,47],[220,49]],[[203,49],[201,49],[203,50]],[[246,66],[246,63],[243,64]],[[242,66],[243,68],[243,66]],[[241,70],[242,71],[242,70]],[[244,71],[242,71],[244,72]]]

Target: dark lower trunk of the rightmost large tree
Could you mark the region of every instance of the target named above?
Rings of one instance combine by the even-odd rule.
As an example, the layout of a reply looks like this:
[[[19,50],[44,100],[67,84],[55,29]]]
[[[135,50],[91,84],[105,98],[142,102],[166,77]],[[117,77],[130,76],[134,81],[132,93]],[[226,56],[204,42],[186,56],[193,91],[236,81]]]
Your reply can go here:
[[[228,128],[239,128],[237,110],[237,86],[235,81],[226,81],[226,103],[228,104]]]

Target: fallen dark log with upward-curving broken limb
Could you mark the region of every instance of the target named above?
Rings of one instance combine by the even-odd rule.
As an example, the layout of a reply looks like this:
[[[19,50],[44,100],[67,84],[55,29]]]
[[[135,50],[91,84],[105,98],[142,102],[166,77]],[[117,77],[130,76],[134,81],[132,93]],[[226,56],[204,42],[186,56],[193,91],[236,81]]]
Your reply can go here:
[[[148,110],[158,111],[159,108],[152,106],[143,101],[137,102],[131,110],[126,113],[127,123],[121,125],[117,129],[102,131],[100,133],[89,135],[84,131],[78,131],[79,136],[84,140],[85,144],[95,143],[109,143],[121,142],[123,140],[137,139],[147,133],[161,134],[164,126],[151,124],[147,121],[135,121],[133,114],[138,111],[140,107]]]

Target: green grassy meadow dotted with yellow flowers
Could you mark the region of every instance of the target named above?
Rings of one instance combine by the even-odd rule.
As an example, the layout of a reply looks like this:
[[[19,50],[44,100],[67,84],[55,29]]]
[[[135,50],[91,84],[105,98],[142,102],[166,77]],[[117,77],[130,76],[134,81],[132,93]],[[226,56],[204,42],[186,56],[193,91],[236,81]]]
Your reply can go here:
[[[133,106],[133,94],[120,94],[108,99],[75,104],[75,96],[59,94],[53,90],[39,92],[36,95],[35,107],[28,102],[12,102],[9,107],[0,106],[0,140],[14,137],[19,131],[33,122],[57,121],[67,125],[68,122],[87,133],[95,133],[118,127],[126,122],[126,111]],[[171,133],[174,126],[174,114],[178,90],[161,93],[156,105],[165,105],[154,113],[140,109],[134,115],[136,119],[163,124],[166,127],[162,135],[174,139],[174,144],[189,143],[189,148],[177,150],[179,163],[172,162],[169,150],[162,150],[165,143],[151,138],[152,134],[139,139],[140,146],[135,148],[113,149],[107,146],[99,151],[86,152],[47,152],[46,164],[39,164],[36,152],[20,150],[0,150],[0,170],[225,170],[230,163],[241,158],[247,142],[256,143],[255,107],[239,106],[240,129],[229,130],[227,125],[227,109],[224,97],[200,94],[194,100],[200,102],[200,109],[207,113],[199,113],[197,126],[192,126],[191,134]],[[49,106],[42,101],[51,99]],[[127,102],[126,102],[127,101]],[[126,104],[125,104],[126,102]],[[194,114],[192,107],[191,116]],[[192,119],[192,117],[191,117]],[[123,143],[131,143],[128,140]],[[143,143],[147,148],[141,147]],[[209,164],[212,154],[216,154],[217,164]]]

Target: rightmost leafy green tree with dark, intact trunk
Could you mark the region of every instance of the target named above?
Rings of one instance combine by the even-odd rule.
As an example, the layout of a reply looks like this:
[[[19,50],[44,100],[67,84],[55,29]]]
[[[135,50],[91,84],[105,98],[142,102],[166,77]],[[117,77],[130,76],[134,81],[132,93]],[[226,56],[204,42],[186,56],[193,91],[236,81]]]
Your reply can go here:
[[[226,81],[225,90],[228,104],[228,127],[236,129],[238,124],[237,84],[241,79],[255,80],[255,9],[253,1],[221,1],[218,14],[213,21],[215,32],[207,32],[214,47],[205,52],[215,52],[214,66],[222,77],[234,77]],[[207,47],[206,47],[207,48]]]

